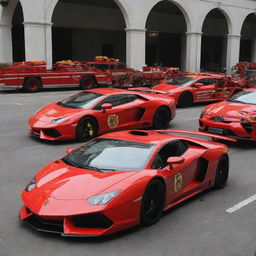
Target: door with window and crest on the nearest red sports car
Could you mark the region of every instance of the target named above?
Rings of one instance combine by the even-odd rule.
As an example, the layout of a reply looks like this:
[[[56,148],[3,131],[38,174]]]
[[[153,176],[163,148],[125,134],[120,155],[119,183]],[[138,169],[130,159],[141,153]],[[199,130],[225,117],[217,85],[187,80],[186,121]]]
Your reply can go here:
[[[167,175],[167,201],[168,204],[186,196],[191,191],[200,187],[198,181],[199,158],[205,153],[205,149],[190,146],[183,140],[175,140],[166,144],[157,154],[152,168],[162,169]],[[182,156],[185,161],[182,164],[173,165],[170,170],[167,159],[169,157]],[[157,164],[158,163],[158,166]]]

